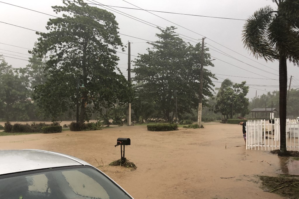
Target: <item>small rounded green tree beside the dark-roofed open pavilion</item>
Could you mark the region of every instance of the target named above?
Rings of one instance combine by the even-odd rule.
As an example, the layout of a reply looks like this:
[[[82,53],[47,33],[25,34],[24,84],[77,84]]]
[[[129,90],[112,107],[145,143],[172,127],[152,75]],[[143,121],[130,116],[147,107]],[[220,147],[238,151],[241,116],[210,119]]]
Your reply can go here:
[[[232,119],[234,114],[241,114],[241,117],[248,114],[249,99],[246,95],[249,87],[245,84],[245,81],[241,84],[235,83],[233,88],[225,89],[224,93],[217,96],[214,112],[221,113],[224,119]]]

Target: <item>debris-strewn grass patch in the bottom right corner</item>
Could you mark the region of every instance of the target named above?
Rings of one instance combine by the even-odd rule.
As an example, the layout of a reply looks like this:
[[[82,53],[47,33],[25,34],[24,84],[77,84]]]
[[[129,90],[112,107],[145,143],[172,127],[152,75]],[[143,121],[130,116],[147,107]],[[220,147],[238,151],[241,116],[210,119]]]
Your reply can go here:
[[[258,176],[262,187],[283,197],[299,199],[299,177],[296,175]]]

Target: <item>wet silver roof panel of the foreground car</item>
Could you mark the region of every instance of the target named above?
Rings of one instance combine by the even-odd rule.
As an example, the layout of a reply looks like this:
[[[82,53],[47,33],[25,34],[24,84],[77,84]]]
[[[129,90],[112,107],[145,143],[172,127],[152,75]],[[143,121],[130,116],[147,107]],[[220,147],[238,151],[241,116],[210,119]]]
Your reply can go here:
[[[0,175],[62,166],[89,165],[76,157],[36,149],[0,150]]]

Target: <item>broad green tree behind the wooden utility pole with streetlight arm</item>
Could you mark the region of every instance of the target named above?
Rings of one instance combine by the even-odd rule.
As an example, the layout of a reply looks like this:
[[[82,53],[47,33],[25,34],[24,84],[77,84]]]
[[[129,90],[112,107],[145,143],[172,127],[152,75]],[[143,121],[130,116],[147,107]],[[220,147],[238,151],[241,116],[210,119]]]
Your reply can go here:
[[[149,42],[152,49],[147,53],[139,54],[135,59],[135,68],[132,70],[137,82],[142,82],[138,89],[142,89],[147,102],[155,102],[158,110],[164,114],[168,122],[173,121],[175,114],[177,91],[178,113],[192,113],[199,103],[199,79],[201,44],[192,46],[184,42],[174,32],[175,27],[167,27],[156,34],[159,38],[156,42]],[[205,62],[213,66],[210,54],[205,48]],[[206,65],[206,66],[207,66]],[[203,94],[212,96],[214,77],[210,71],[204,69]],[[205,102],[204,102],[205,103]]]

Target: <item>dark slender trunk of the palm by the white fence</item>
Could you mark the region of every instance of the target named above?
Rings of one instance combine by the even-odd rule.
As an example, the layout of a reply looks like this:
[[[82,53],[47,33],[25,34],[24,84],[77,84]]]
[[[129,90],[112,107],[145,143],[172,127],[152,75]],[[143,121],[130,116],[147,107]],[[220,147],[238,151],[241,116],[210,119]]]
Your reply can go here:
[[[286,94],[288,76],[286,68],[286,56],[280,53],[279,59],[279,112],[280,112],[280,150],[279,156],[288,154],[286,150]]]

